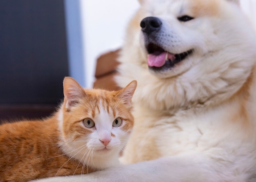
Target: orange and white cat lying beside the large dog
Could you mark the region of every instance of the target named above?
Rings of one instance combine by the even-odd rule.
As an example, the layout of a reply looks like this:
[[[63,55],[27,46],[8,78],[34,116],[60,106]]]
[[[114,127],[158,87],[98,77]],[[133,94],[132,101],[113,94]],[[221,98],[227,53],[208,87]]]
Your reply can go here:
[[[91,173],[119,164],[132,130],[137,81],[119,91],[63,81],[64,101],[42,121],[0,125],[0,182]]]

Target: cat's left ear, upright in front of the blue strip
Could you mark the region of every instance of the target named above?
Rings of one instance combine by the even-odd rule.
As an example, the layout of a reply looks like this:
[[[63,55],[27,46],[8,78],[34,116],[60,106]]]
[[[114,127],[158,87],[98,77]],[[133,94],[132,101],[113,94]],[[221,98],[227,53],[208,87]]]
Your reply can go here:
[[[71,78],[65,77],[63,81],[64,105],[67,109],[79,103],[80,99],[86,95],[79,83]]]

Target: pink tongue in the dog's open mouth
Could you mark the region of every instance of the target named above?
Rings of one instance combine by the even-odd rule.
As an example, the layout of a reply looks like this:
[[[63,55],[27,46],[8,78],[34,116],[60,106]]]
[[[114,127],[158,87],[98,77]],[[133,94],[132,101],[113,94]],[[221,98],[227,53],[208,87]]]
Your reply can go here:
[[[175,58],[175,56],[171,53],[163,52],[160,54],[149,54],[148,55],[148,66],[152,67],[161,67],[164,66],[165,61],[170,59],[171,61]]]

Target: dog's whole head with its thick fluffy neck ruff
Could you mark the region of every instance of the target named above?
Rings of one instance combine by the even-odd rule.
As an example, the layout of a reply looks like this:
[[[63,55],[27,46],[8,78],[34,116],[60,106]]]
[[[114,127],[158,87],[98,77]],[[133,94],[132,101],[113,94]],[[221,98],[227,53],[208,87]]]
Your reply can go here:
[[[231,96],[245,83],[255,62],[256,38],[238,0],[140,4],[120,57],[121,74],[138,80],[137,92],[143,85],[146,94],[146,83],[155,82],[158,89],[171,90],[168,96],[163,91],[161,98],[180,105],[204,102],[220,93]],[[149,89],[152,93],[154,86]],[[177,94],[172,93],[175,90]]]

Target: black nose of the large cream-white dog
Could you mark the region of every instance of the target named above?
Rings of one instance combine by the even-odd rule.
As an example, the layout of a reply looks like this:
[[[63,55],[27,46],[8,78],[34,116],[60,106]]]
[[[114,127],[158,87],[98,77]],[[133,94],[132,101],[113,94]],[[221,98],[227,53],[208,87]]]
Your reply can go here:
[[[145,33],[158,31],[159,29],[161,29],[161,25],[162,25],[161,20],[153,16],[144,18],[140,22],[141,30]]]

